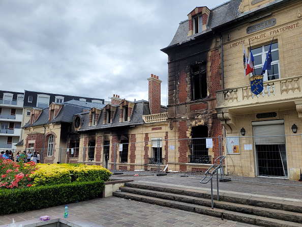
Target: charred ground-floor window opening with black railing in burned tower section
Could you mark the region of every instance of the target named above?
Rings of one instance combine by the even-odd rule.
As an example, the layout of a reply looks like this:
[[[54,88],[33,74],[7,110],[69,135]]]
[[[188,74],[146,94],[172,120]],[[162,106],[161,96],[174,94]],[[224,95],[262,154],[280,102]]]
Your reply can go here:
[[[206,148],[207,136],[207,126],[201,125],[192,128],[192,144],[189,162],[211,163],[211,157],[208,155],[208,149]]]

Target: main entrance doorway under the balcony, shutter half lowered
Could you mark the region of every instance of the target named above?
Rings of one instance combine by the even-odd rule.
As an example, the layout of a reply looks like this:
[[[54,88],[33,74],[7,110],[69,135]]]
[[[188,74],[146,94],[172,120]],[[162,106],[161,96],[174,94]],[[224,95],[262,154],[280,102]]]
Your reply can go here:
[[[284,121],[252,122],[257,176],[287,177]]]

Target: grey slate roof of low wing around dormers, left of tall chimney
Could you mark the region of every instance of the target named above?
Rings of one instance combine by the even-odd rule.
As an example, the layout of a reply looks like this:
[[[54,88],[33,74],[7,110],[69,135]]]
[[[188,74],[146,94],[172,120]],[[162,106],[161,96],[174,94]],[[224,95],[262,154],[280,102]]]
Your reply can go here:
[[[97,130],[97,129],[110,129],[113,127],[129,127],[133,125],[145,124],[142,116],[150,115],[149,102],[145,100],[140,100],[134,102],[134,107],[132,111],[132,115],[130,121],[128,122],[119,122],[119,105],[116,105],[116,110],[114,112],[113,121],[111,124],[103,124],[104,119],[104,111],[101,112],[101,116],[99,117],[98,123],[95,126],[89,126],[89,112],[82,113],[83,116],[83,124],[81,128],[77,131],[87,131],[87,130]],[[167,112],[166,106],[161,106],[161,112]]]

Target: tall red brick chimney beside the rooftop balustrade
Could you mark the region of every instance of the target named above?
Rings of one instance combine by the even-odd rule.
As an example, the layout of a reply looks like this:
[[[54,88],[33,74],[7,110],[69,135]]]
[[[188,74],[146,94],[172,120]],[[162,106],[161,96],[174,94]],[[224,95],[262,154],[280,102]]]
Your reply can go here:
[[[149,81],[149,107],[151,114],[161,112],[161,80],[158,76],[151,74],[151,77],[147,78]]]

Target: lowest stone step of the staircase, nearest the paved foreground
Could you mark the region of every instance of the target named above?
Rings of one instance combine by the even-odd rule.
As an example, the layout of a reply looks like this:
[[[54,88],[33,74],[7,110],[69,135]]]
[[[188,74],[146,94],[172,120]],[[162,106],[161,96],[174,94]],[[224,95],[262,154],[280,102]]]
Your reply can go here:
[[[220,218],[225,218],[228,220],[238,221],[242,223],[254,224],[259,226],[268,226],[268,227],[301,227],[302,224],[279,220],[275,218],[262,217],[253,214],[244,214],[219,208],[210,208],[206,206],[201,206],[197,204],[190,204],[178,201],[164,200],[163,198],[157,198],[152,196],[133,194],[129,192],[113,192],[113,196],[125,198],[127,200],[135,200],[143,203],[155,204],[164,207],[170,207],[190,212],[195,212],[199,214],[215,216]]]

